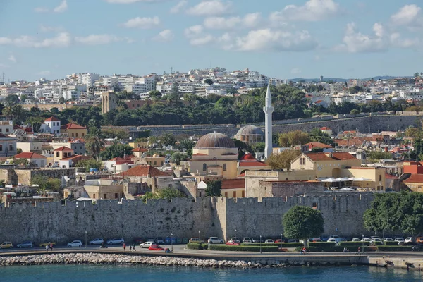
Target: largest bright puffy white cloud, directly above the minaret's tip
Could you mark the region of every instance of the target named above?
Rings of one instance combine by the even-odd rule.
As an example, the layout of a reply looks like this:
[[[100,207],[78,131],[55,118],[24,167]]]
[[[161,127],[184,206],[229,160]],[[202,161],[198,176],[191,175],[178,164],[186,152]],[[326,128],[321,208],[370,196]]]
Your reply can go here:
[[[305,30],[289,32],[266,28],[238,37],[235,47],[242,51],[309,51],[317,47],[317,42]]]

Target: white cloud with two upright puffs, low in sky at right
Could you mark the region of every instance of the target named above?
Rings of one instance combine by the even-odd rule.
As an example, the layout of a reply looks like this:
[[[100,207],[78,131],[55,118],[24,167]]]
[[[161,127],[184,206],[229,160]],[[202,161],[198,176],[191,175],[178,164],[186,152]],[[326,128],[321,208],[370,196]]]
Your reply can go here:
[[[385,51],[388,42],[384,39],[384,27],[375,23],[373,25],[374,35],[363,35],[357,31],[355,23],[348,23],[347,30],[343,37],[343,44],[335,47],[337,51],[349,53]]]

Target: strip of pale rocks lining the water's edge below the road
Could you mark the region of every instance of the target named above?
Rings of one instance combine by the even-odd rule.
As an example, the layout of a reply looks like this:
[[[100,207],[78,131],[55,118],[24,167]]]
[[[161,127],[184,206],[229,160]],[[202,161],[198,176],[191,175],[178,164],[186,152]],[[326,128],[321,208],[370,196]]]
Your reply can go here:
[[[0,257],[0,266],[42,265],[42,264],[145,264],[157,266],[195,266],[204,268],[262,268],[329,265],[315,262],[280,262],[274,259],[260,259],[255,262],[243,260],[192,259],[181,257],[143,257],[139,255],[114,255],[96,253],[48,254]]]

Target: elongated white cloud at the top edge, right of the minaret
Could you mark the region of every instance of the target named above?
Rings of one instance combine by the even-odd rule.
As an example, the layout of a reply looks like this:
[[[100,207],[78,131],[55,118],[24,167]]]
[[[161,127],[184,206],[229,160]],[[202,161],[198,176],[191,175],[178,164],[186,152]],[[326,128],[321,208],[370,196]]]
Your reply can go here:
[[[309,0],[303,6],[288,5],[282,11],[271,13],[274,23],[290,21],[315,22],[336,15],[339,4],[333,0]]]

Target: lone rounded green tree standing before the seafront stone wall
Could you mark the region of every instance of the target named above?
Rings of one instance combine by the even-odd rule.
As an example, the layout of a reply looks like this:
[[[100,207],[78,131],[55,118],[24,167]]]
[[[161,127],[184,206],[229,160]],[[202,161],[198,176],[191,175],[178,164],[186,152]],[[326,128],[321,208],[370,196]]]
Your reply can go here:
[[[286,238],[302,239],[319,237],[324,232],[324,219],[321,212],[311,207],[291,207],[283,215],[283,235]]]

